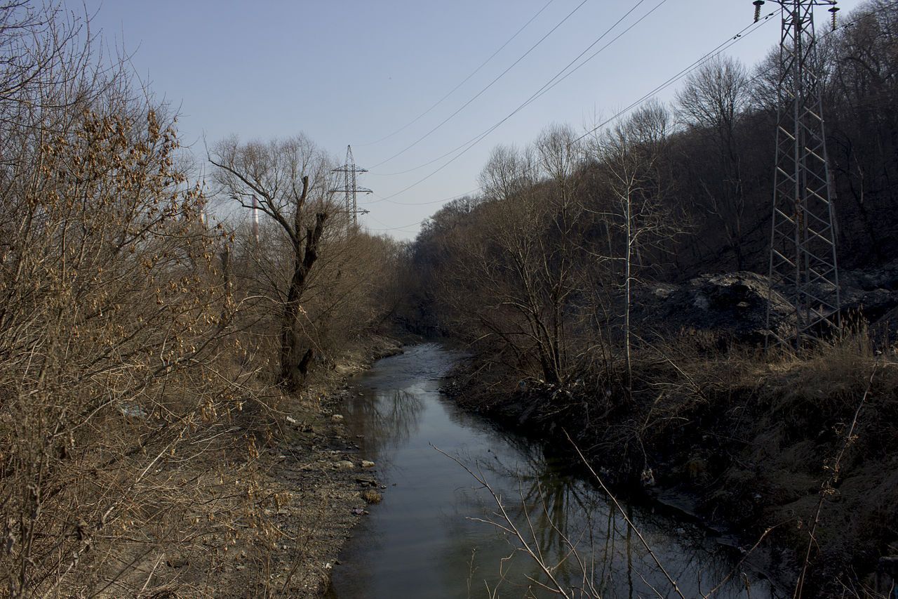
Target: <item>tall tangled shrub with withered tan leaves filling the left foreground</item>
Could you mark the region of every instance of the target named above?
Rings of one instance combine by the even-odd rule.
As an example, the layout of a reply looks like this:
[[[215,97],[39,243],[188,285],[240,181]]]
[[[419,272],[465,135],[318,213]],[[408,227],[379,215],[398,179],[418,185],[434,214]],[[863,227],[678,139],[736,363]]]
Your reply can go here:
[[[221,232],[173,121],[92,58],[83,22],[0,13],[18,23],[0,27],[16,84],[0,94],[0,585],[209,588],[185,556],[211,576],[238,538],[273,534],[255,439],[233,431],[252,369],[231,357]]]

